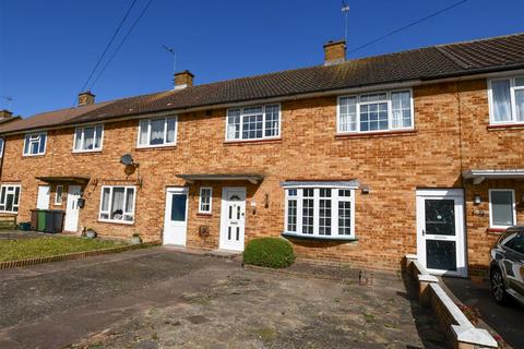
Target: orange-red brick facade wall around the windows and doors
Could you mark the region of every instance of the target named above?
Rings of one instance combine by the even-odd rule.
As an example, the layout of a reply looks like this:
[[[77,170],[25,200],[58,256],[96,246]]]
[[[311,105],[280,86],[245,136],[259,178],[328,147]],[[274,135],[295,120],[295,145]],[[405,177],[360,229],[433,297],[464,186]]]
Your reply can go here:
[[[246,239],[249,240],[282,232],[281,181],[357,178],[371,189],[369,194],[356,193],[358,241],[296,241],[295,249],[306,257],[396,268],[404,254],[416,253],[417,188],[462,188],[461,171],[468,168],[524,168],[524,164],[520,164],[524,163],[522,156],[515,154],[522,149],[522,131],[486,128],[485,80],[415,87],[414,97],[416,130],[389,135],[336,137],[336,96],[332,96],[283,103],[282,140],[272,142],[225,143],[224,109],[211,115],[205,111],[180,115],[177,146],[167,148],[136,149],[136,120],[106,123],[104,148],[94,154],[72,154],[73,129],[50,131],[46,155],[34,158],[22,157],[22,136],[11,136],[1,180],[22,182],[19,220],[24,221],[28,219],[28,209],[36,205],[35,176],[91,176],[92,181],[85,188],[86,205],[80,215],[81,226],[92,227],[103,236],[128,238],[140,232],[145,240],[158,240],[165,189],[184,184],[176,174],[263,174],[265,179],[260,185],[248,182],[191,185],[188,246],[215,249],[223,185],[247,188]],[[138,190],[135,224],[99,222],[100,185],[131,184],[136,180],[136,173],[126,178],[119,164],[123,153],[133,155],[143,179]],[[213,186],[211,216],[198,215],[201,184]],[[266,195],[267,208],[264,207]],[[486,252],[493,239],[485,231],[487,218],[471,215],[469,194],[466,201],[469,262],[486,265]],[[251,210],[251,202],[257,203],[255,213]],[[209,237],[198,234],[201,225],[210,226]]]

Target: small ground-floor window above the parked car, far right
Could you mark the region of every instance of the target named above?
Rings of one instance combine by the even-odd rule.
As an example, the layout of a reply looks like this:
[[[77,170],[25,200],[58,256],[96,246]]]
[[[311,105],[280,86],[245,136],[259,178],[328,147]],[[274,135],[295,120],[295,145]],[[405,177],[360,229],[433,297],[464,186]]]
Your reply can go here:
[[[490,189],[489,226],[491,228],[507,228],[515,224],[515,191],[512,189]]]

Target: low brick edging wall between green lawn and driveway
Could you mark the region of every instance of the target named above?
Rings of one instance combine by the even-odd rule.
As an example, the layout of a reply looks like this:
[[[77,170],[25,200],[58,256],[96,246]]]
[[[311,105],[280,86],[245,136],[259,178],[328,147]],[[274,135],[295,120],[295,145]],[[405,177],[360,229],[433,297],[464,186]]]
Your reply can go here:
[[[144,249],[144,248],[159,245],[159,244],[160,244],[159,242],[146,242],[141,244],[130,244],[130,245],[111,248],[111,249],[51,255],[48,257],[28,258],[28,260],[20,260],[20,261],[7,261],[7,262],[0,262],[0,269],[16,268],[22,266],[37,265],[37,264],[44,264],[44,263],[50,263],[50,262],[82,260],[82,258],[91,257],[95,255],[120,253],[120,252]]]

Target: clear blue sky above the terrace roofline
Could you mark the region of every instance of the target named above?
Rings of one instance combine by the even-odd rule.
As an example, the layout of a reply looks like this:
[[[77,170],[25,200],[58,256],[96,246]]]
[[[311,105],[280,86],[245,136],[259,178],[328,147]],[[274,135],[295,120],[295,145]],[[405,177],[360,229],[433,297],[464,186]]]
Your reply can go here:
[[[147,1],[136,1],[114,47]],[[456,1],[346,0],[348,50]],[[0,97],[0,109],[28,117],[71,107],[131,2],[0,0],[0,96],[13,97]],[[522,13],[522,0],[469,0],[348,58],[524,32]],[[343,23],[341,0],[153,0],[93,92],[102,101],[171,88],[162,45],[196,84],[319,64]]]

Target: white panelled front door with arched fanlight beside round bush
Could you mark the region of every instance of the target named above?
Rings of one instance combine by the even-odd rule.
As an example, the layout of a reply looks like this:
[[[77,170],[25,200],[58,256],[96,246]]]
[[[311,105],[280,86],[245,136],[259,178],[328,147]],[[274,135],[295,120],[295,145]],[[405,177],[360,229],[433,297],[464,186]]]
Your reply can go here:
[[[223,250],[243,251],[246,189],[224,188],[222,193],[221,242]]]

